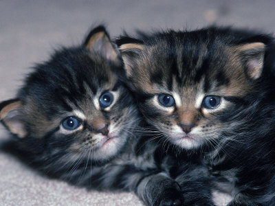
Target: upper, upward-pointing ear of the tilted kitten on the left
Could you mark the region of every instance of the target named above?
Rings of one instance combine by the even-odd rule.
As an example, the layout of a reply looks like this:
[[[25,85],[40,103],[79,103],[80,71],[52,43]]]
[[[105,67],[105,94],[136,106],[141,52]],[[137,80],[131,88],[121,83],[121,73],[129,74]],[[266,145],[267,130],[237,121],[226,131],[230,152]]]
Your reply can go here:
[[[94,30],[91,30],[85,39],[84,45],[89,52],[100,54],[105,59],[110,60],[116,65],[120,65],[120,52],[115,45],[111,43],[109,34],[104,26],[100,25],[94,28]]]

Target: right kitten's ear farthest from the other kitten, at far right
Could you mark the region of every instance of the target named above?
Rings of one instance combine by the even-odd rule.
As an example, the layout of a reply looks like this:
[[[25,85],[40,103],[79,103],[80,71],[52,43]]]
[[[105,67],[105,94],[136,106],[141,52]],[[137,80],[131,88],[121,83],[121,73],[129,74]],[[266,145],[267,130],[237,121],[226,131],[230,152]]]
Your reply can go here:
[[[258,79],[263,71],[265,44],[256,42],[239,45],[236,54],[241,58],[247,76],[252,80]]]

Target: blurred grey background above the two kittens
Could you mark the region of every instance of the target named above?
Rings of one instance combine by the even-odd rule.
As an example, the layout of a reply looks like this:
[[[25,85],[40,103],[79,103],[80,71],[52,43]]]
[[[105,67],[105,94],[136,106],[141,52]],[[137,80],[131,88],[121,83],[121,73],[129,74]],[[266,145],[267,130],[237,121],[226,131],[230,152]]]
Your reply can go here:
[[[98,23],[112,37],[122,30],[193,30],[213,23],[272,33],[274,11],[274,0],[0,0],[0,101],[14,97],[34,62],[47,60],[60,45],[81,43]]]

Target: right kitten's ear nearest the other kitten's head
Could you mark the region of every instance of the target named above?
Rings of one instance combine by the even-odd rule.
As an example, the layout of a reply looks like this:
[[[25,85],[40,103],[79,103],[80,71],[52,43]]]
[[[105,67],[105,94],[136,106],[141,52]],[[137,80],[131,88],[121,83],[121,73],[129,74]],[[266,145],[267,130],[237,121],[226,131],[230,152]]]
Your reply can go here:
[[[120,54],[122,55],[126,76],[128,78],[134,76],[136,69],[136,60],[140,58],[140,56],[142,56],[144,44],[141,41],[137,41],[135,43],[124,43],[121,44],[118,49],[120,50]]]

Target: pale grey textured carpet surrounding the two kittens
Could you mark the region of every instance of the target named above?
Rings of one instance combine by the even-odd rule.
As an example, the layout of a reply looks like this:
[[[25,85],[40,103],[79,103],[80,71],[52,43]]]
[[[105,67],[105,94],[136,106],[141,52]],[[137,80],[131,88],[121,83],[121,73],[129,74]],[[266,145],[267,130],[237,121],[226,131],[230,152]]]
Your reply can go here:
[[[136,28],[196,29],[212,23],[274,32],[275,1],[0,1],[0,101],[13,98],[34,62],[52,49],[80,43],[91,25],[111,36]],[[0,143],[9,138],[0,126]],[[229,197],[214,193],[219,205]],[[129,193],[86,191],[47,179],[0,151],[0,205],[135,205]]]

